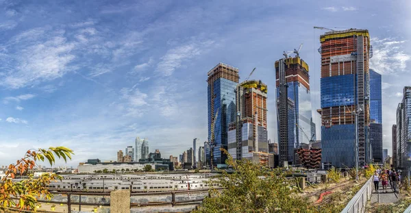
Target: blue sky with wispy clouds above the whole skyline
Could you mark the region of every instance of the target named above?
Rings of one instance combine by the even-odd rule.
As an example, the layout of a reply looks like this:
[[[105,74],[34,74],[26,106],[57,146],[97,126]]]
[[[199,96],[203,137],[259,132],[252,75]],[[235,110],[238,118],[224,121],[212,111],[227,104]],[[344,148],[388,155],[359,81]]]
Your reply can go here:
[[[267,84],[277,142],[275,60],[303,47],[320,135],[319,36],[369,29],[382,74],[383,147],[411,86],[411,3],[399,1],[0,0],[0,165],[65,146],[69,166],[148,138],[163,158],[207,138],[207,73],[219,62]],[[334,28],[340,27],[340,28]],[[59,161],[57,165],[62,165]]]

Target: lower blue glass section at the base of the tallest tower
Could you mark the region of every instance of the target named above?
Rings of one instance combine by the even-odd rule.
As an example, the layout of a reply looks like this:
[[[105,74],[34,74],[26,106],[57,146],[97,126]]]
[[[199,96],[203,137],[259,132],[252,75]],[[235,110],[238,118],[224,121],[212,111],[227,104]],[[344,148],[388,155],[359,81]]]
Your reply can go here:
[[[356,165],[356,126],[332,125],[321,127],[322,162],[329,166],[353,167]]]

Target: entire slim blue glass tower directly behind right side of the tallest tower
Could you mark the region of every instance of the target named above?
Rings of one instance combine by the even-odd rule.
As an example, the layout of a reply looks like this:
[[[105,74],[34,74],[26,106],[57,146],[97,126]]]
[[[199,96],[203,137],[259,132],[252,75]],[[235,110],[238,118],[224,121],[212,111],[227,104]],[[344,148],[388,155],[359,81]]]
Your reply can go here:
[[[370,69],[370,144],[373,162],[383,162],[382,156],[382,82],[381,75]]]

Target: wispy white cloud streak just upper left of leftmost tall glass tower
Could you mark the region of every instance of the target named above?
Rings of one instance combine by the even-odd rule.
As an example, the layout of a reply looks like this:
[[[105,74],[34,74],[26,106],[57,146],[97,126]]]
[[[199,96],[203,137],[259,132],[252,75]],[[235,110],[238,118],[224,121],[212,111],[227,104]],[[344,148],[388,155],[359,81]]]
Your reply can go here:
[[[157,64],[155,73],[158,73],[162,76],[172,75],[175,69],[182,66],[182,63],[185,60],[194,58],[197,55],[200,55],[204,49],[212,45],[213,41],[208,40],[205,42],[191,42],[186,45],[181,45],[173,49],[169,49],[166,55],[161,58],[161,62]]]

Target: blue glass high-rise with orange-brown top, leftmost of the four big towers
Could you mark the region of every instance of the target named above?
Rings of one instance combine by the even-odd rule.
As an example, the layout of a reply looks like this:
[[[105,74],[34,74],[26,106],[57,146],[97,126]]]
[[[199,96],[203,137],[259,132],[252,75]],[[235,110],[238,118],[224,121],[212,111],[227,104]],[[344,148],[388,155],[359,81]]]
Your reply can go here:
[[[223,63],[217,64],[208,71],[208,141],[212,161],[211,159],[207,161],[212,162],[212,166],[225,164],[227,159],[221,148],[227,150],[228,124],[236,121],[234,90],[236,90],[239,78],[238,68]],[[214,119],[216,119],[215,122]]]

